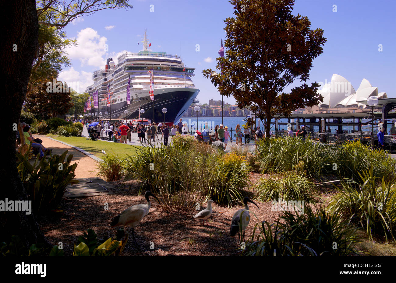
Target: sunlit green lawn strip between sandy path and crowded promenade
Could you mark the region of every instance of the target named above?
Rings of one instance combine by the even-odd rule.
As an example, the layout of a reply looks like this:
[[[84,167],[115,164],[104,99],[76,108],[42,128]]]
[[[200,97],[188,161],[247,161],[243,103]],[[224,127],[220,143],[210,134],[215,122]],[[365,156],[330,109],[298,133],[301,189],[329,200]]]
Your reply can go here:
[[[67,144],[77,146],[89,153],[95,155],[97,158],[103,158],[104,154],[102,150],[105,150],[106,154],[115,154],[120,158],[126,158],[128,155],[132,156],[136,154],[136,150],[139,150],[142,146],[131,146],[122,143],[113,143],[105,141],[92,141],[88,140],[86,137],[63,137],[57,135],[48,135],[53,139],[58,141],[66,142]]]

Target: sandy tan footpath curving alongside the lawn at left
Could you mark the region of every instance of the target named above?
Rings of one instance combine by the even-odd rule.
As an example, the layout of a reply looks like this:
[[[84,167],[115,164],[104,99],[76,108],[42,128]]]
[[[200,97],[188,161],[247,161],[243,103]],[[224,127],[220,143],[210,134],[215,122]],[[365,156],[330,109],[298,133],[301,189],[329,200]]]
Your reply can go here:
[[[61,155],[65,150],[69,150],[68,156],[73,154],[72,163],[76,162],[78,164],[76,171],[74,171],[76,178],[96,177],[97,161],[70,146],[49,139],[44,135],[34,135],[34,137],[42,139],[44,146],[51,148],[54,154]]]

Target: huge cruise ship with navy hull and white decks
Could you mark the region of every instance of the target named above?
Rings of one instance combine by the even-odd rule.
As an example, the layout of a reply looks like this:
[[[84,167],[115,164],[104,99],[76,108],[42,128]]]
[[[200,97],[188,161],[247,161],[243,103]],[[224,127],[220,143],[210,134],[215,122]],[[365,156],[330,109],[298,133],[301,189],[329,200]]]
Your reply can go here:
[[[143,39],[143,50],[138,53],[123,53],[114,65],[112,58],[107,59],[105,69],[93,73],[94,83],[86,93],[99,93],[99,109],[92,107],[91,112],[107,114],[107,120],[132,120],[146,118],[150,122],[165,122],[169,125],[196,103],[199,89],[192,83],[195,68],[188,68],[178,55],[153,52],[149,49],[147,34]],[[154,70],[154,101],[150,99],[150,76]],[[131,103],[127,104],[127,87],[130,79]],[[110,86],[110,106],[107,106],[107,93]],[[154,108],[154,111],[153,111]],[[167,108],[164,114],[162,109]],[[141,109],[144,113],[141,114]],[[127,110],[125,113],[125,110]]]

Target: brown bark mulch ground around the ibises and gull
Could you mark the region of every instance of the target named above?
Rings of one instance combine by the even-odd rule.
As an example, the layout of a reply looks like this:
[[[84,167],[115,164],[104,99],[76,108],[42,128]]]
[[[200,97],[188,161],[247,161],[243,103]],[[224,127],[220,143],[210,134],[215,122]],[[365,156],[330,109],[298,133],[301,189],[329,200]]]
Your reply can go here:
[[[252,184],[261,177],[267,178],[269,175],[250,173]],[[319,184],[318,181],[316,183]],[[126,184],[118,181],[112,182],[112,185],[114,194],[64,199],[60,212],[39,216],[38,223],[47,239],[53,244],[62,242],[65,255],[72,255],[74,243],[89,228],[93,229],[100,239],[113,237],[118,227],[110,227],[112,218],[131,205],[145,203],[146,200],[143,195],[138,195],[139,184],[136,181]],[[324,200],[333,194],[335,190],[331,183],[318,186],[317,204],[324,203]],[[244,196],[251,199],[254,199],[254,195],[254,186],[244,192]],[[281,213],[271,210],[271,201],[254,201],[260,209],[253,204],[249,205],[251,220],[246,229],[246,240],[251,236],[255,223],[263,220],[273,223]],[[106,203],[108,209],[105,209]],[[205,207],[206,204],[202,204],[200,209]],[[151,198],[150,213],[135,228],[135,236],[141,246],[133,245],[129,229],[128,243],[122,255],[238,255],[238,235],[230,237],[230,224],[232,216],[238,209],[243,208],[243,204],[228,209],[213,203],[212,207],[213,214],[208,219],[209,224],[203,225],[202,221],[192,219],[197,210],[174,211],[168,214]]]

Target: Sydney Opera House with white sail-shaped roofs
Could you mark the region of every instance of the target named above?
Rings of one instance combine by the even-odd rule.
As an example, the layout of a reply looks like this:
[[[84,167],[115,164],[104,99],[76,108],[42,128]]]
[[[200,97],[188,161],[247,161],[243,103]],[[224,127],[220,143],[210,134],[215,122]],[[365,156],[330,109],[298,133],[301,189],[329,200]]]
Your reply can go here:
[[[385,92],[378,93],[377,87],[373,87],[369,81],[363,79],[359,88],[355,91],[354,87],[343,76],[333,74],[331,82],[324,84],[318,93],[322,94],[323,102],[303,110],[308,113],[341,113],[341,112],[363,112],[365,104],[356,101],[364,101],[371,96],[378,99],[388,98]],[[297,110],[298,111],[298,110]]]

